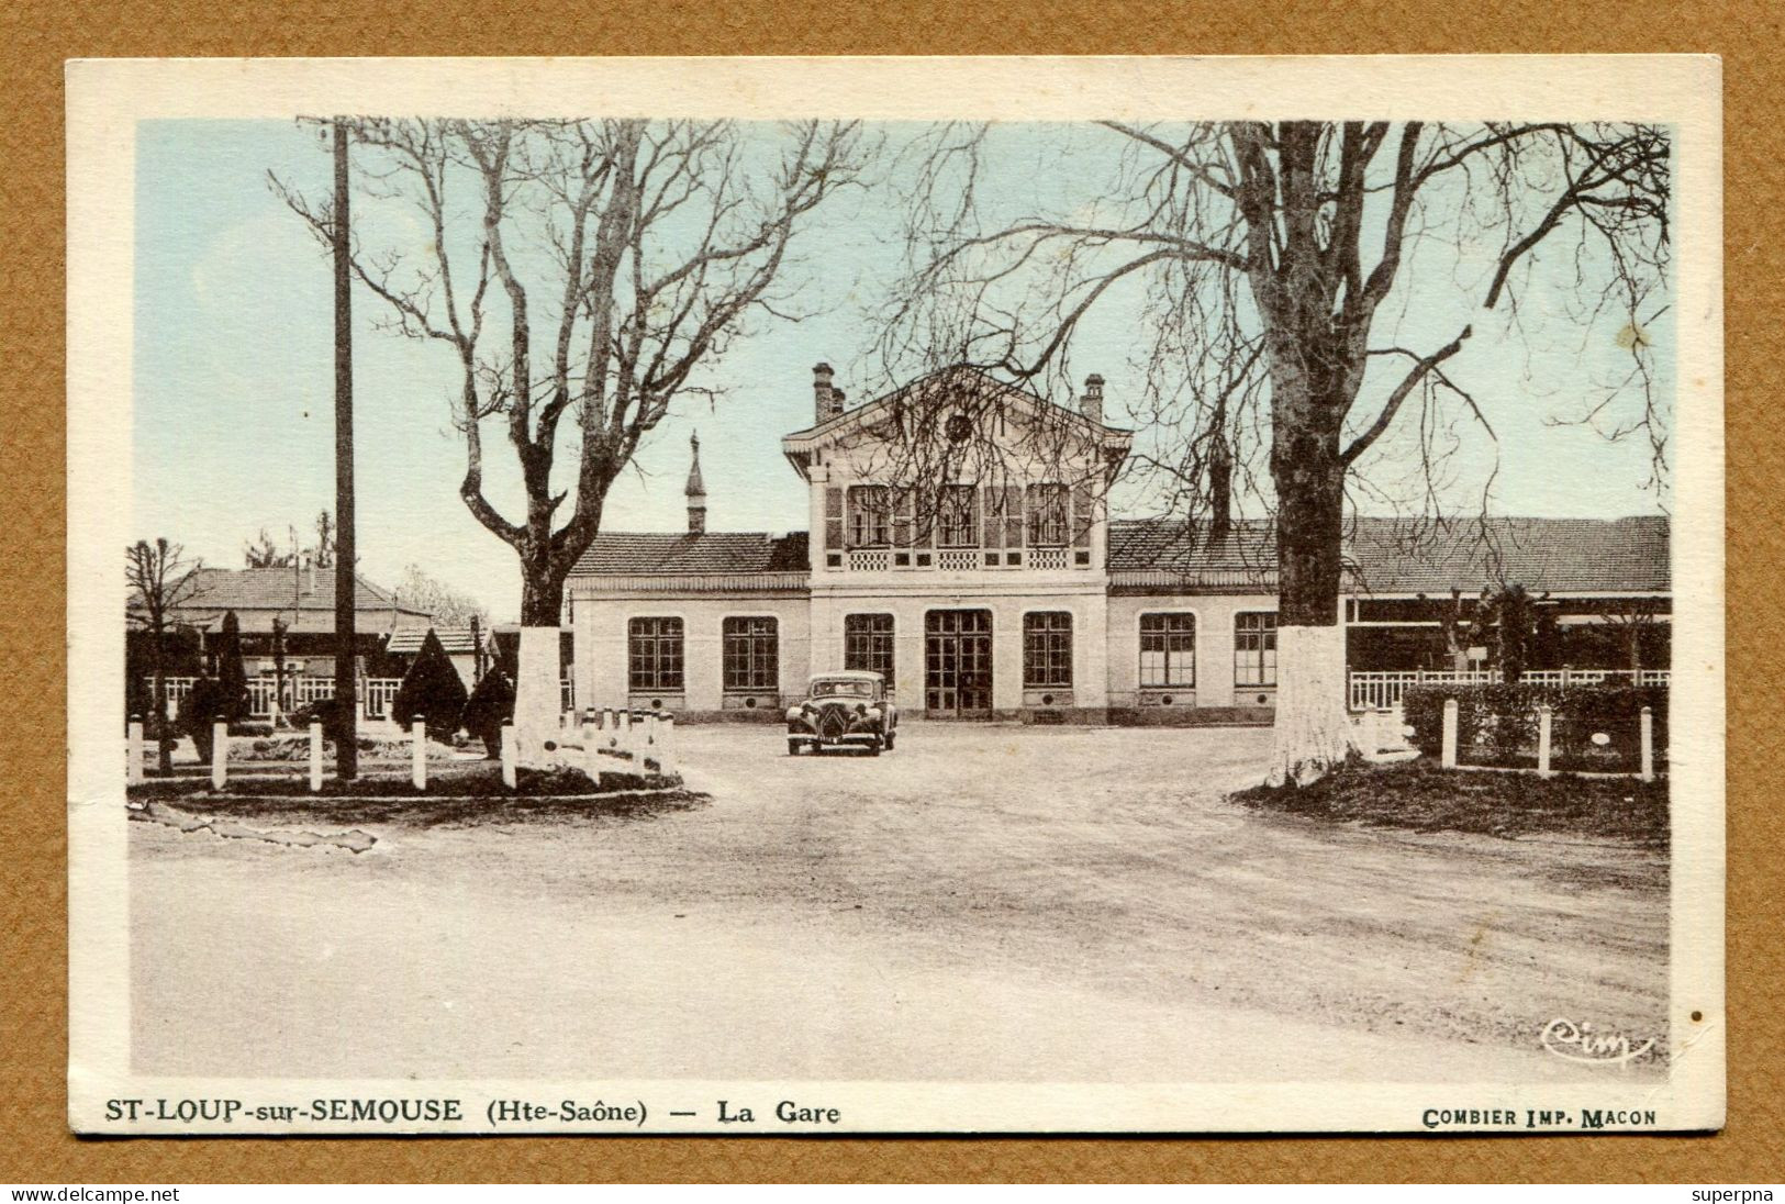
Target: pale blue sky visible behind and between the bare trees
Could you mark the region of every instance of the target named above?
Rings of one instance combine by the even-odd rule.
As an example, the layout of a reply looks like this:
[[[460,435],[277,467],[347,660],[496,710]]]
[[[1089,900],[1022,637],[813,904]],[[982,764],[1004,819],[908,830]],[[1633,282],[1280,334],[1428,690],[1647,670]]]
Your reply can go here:
[[[896,145],[900,130],[887,130]],[[762,138],[773,136],[764,129]],[[992,143],[989,196],[1017,214],[1075,204],[1101,179],[1112,146],[1094,130],[1007,127]],[[1112,136],[1108,136],[1112,138]],[[1062,154],[1060,146],[1066,146]],[[289,121],[145,121],[137,129],[134,489],[130,529],[168,536],[209,564],[239,566],[261,527],[309,536],[334,497],[332,295],[328,261],[268,189],[268,170],[321,195],[328,155],[314,132]],[[1051,180],[1051,182],[1048,182]],[[1039,200],[1037,200],[1039,198]],[[677,531],[684,523],[687,434],[702,432],[709,522],[721,531],[789,531],[807,522],[798,477],[780,436],[810,423],[810,366],[825,359],[860,400],[884,380],[869,361],[875,314],[900,268],[900,209],[891,189],[839,196],[796,239],[787,280],[800,286],[800,323],[757,320],[712,368],[726,395],[718,411],[694,402],[646,443],[639,472],[607,506],[609,531]],[[1421,298],[1405,318],[1410,345],[1467,316],[1471,264],[1455,297]],[[355,297],[359,429],[359,543],[362,570],[394,584],[419,563],[486,602],[498,618],[518,609],[514,554],[466,513],[457,497],[461,438],[446,422],[453,363],[439,345],[377,330],[378,302]],[[1673,323],[1656,323],[1664,388],[1671,388]],[[1585,347],[1583,347],[1585,339]],[[1148,338],[1133,298],[1112,295],[1075,343],[1073,368],[1108,379],[1112,420],[1141,384]],[[1521,338],[1478,323],[1453,361],[1499,436],[1492,507],[1499,513],[1619,516],[1653,513],[1644,489],[1646,445],[1608,445],[1544,418],[1585,397],[1590,373],[1614,361],[1610,332],[1532,322]],[[1062,398],[1064,400],[1064,398]],[[1146,432],[1141,436],[1146,439]],[[507,445],[486,439],[493,468]],[[1485,477],[1490,447],[1473,438],[1457,463],[1467,495]],[[1374,470],[1392,482],[1407,470]],[[518,513],[512,475],[491,473],[489,493]],[[1117,506],[1125,498],[1117,497]],[[1142,498],[1126,498],[1141,506]]]

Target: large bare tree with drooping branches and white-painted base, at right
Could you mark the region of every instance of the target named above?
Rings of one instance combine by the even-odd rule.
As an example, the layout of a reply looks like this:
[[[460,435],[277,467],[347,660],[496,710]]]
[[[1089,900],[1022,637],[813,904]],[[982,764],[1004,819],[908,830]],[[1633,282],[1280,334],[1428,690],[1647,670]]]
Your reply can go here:
[[[1353,747],[1339,623],[1348,489],[1414,477],[1437,506],[1458,420],[1492,434],[1449,368],[1474,323],[1546,311],[1583,330],[1619,322],[1628,370],[1553,418],[1646,438],[1664,472],[1649,329],[1667,289],[1667,134],[1419,121],[1101,130],[1117,150],[1096,200],[1014,220],[980,216],[984,127],[921,138],[892,338],[916,347],[941,332],[951,341],[939,357],[1059,382],[1083,318],[1108,297],[1142,298],[1142,418],[1158,439],[1137,459],[1180,516],[1221,529],[1246,488],[1273,513],[1267,781],[1305,782]],[[1458,293],[1471,313],[1451,330],[1417,345],[1403,334],[1410,311]]]

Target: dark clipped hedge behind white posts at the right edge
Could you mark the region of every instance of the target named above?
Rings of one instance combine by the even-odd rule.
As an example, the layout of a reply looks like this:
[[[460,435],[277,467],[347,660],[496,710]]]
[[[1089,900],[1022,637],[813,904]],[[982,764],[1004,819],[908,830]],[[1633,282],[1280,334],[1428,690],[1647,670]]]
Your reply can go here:
[[[1457,748],[1478,750],[1496,761],[1537,757],[1537,709],[1551,707],[1551,765],[1605,765],[1608,756],[1637,768],[1642,757],[1642,707],[1655,716],[1655,761],[1667,750],[1667,686],[1412,686],[1401,711],[1412,741],[1426,756],[1444,745],[1444,702],[1457,700]],[[1596,732],[1610,738],[1603,748]]]

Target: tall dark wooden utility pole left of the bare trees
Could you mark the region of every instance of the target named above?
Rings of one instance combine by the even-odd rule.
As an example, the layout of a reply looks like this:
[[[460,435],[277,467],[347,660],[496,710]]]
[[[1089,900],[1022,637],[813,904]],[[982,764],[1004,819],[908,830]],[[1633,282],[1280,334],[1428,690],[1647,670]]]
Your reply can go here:
[[[336,118],[336,777],[359,777],[359,698],[353,657],[353,279],[348,241],[346,121]]]

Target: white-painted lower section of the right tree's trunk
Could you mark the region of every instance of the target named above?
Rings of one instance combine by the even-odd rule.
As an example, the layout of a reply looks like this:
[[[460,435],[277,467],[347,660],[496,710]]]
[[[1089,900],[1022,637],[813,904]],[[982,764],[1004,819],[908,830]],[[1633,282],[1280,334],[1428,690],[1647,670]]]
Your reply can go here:
[[[1342,625],[1276,629],[1276,740],[1267,786],[1307,786],[1357,750],[1344,690]]]

